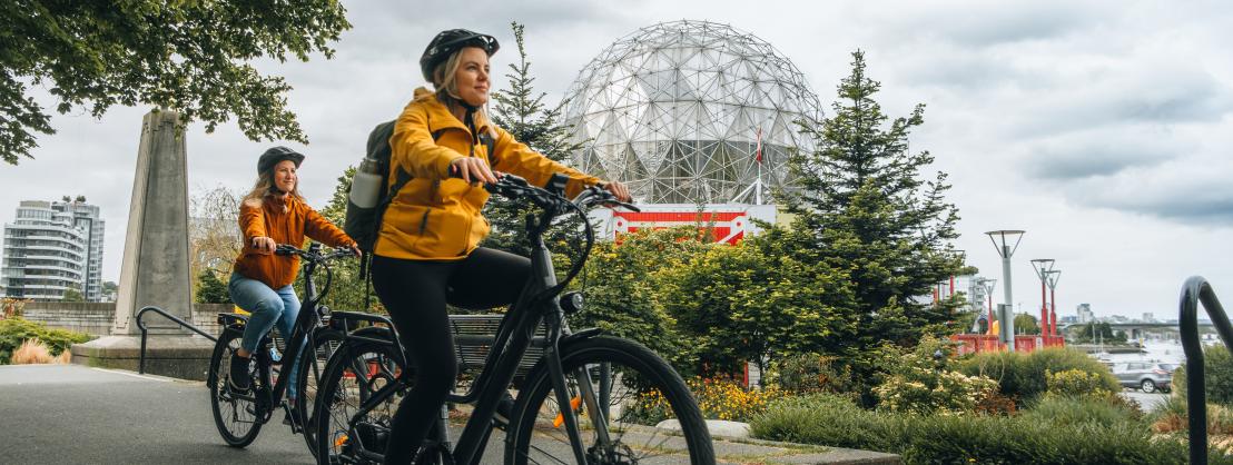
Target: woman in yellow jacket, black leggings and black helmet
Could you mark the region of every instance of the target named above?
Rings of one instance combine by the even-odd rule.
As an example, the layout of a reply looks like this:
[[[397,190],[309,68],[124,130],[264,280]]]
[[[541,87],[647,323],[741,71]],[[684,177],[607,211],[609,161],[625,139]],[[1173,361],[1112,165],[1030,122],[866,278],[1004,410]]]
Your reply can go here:
[[[491,85],[488,58],[498,47],[492,36],[466,30],[436,35],[419,59],[435,91],[416,90],[390,138],[391,173],[411,180],[385,213],[372,286],[417,371],[416,387],[395,414],[386,464],[411,463],[454,386],[457,364],[446,302],[464,308],[509,305],[530,274],[529,259],[478,247],[488,234],[488,221],[480,213],[488,191],[480,184],[496,183],[496,173],[512,173],[544,185],[562,173],[570,176],[570,196],[603,184],[629,200],[623,184],[552,162],[492,123],[483,105]],[[398,176],[390,178],[392,186]]]

